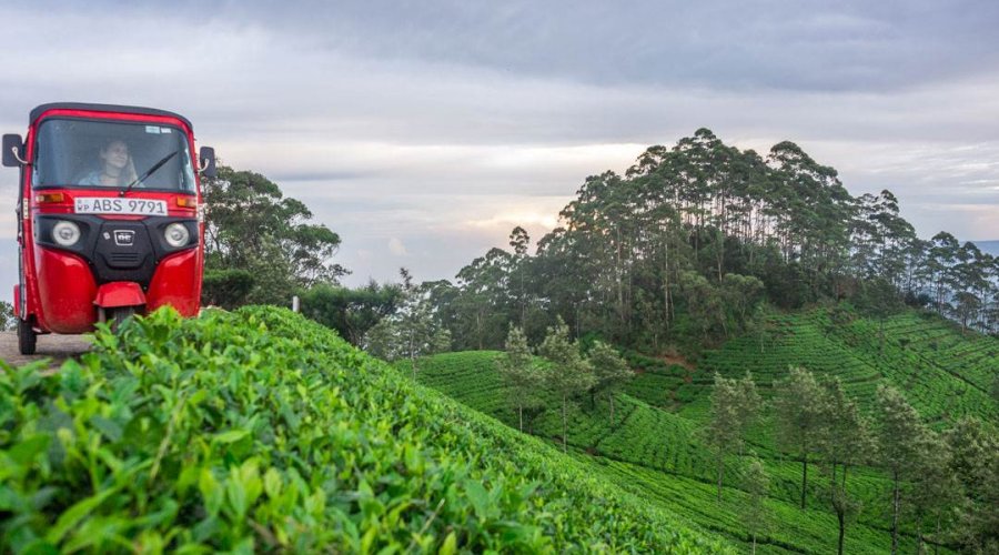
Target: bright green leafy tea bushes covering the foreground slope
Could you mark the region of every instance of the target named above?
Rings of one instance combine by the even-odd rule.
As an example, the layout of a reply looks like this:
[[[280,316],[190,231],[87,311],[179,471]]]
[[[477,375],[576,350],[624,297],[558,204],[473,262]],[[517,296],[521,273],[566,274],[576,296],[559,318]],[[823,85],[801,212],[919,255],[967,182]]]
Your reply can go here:
[[[565,456],[284,310],[160,311],[95,345],[54,375],[0,364],[0,552],[731,551],[640,467]]]

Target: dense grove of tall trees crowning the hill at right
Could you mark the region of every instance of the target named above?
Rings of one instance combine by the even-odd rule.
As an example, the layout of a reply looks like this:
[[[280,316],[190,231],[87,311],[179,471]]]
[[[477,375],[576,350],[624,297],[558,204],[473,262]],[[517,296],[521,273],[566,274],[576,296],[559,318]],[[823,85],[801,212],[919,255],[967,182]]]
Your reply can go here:
[[[946,232],[919,239],[890,191],[851,196],[837,171],[784,141],[766,154],[707,129],[655,145],[624,175],[586,178],[536,242],[523,228],[441,282],[456,349],[532,342],[562,317],[574,335],[664,352],[758,330],[781,309],[906,302],[999,332],[999,262]],[[443,301],[446,299],[446,301]]]

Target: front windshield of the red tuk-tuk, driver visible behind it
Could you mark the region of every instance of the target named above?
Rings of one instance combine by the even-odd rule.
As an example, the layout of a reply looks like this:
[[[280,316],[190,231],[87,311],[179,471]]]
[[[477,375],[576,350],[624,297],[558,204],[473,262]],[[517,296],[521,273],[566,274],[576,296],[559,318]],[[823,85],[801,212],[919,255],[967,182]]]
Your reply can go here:
[[[191,149],[178,127],[50,119],[39,127],[34,152],[33,186],[194,192]]]

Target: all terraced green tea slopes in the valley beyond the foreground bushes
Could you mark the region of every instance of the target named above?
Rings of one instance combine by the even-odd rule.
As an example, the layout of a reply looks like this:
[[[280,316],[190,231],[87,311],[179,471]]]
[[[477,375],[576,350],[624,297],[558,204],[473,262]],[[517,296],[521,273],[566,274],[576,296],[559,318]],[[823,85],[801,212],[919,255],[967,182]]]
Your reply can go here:
[[[568,443],[574,455],[591,464],[594,474],[739,543],[746,537],[739,517],[745,493],[737,487],[744,462],[739,457],[727,462],[725,502],[717,503],[714,460],[697,434],[714,372],[740,377],[751,370],[768,396],[773,381],[784,375],[788,365],[803,365],[818,374],[840,376],[867,407],[877,385],[889,383],[906,392],[924,417],[938,427],[966,414],[997,414],[996,402],[983,389],[988,377],[999,372],[999,342],[995,339],[961,337],[947,321],[906,313],[885,323],[881,346],[874,329],[877,323],[860,319],[833,325],[830,317],[816,311],[775,319],[763,347],[758,340],[735,340],[707,353],[694,369],[633,355],[632,364],[640,374],[617,398],[616,425],[610,425],[603,401],[595,405],[583,401],[573,412]],[[420,381],[516,426],[496,371],[498,355],[437,355],[421,364]],[[554,412],[531,422],[531,431],[558,437],[561,421]],[[815,473],[808,509],[800,511],[796,504],[800,464],[784,460],[774,450],[768,426],[758,426],[751,435],[751,448],[771,476],[768,507],[780,523],[764,539],[764,552],[835,552],[837,524],[825,498],[828,478]],[[851,478],[851,492],[865,508],[847,532],[847,553],[887,552],[889,482],[874,470],[859,470]],[[915,539],[905,538],[904,549],[914,548]]]

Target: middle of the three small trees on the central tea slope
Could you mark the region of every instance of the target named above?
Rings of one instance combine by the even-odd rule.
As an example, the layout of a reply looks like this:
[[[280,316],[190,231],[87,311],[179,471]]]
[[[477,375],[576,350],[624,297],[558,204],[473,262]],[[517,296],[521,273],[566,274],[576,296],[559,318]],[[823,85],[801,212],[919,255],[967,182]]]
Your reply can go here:
[[[553,327],[548,327],[548,334],[538,353],[549,363],[545,374],[548,390],[562,397],[562,451],[566,452],[568,403],[592,387],[596,379],[593,369],[579,354],[576,342],[569,340],[568,326],[561,317]]]

